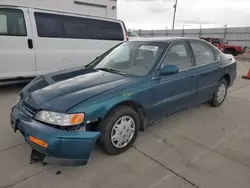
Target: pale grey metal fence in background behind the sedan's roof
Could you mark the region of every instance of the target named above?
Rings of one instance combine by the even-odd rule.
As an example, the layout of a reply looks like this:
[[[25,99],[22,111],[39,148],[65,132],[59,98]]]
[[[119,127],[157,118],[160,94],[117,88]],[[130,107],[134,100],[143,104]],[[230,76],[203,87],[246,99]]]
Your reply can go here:
[[[141,37],[218,37],[229,43],[250,47],[250,27],[178,29],[178,30],[138,30]]]

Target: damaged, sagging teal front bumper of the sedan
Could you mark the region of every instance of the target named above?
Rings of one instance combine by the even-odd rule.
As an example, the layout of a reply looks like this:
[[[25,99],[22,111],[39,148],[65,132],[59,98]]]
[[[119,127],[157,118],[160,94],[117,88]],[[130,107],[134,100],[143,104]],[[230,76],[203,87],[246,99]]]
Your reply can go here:
[[[36,158],[51,156],[58,159],[76,161],[76,164],[86,164],[95,147],[99,132],[69,132],[50,127],[29,117],[25,112],[15,106],[10,114],[10,123],[14,131],[19,130],[25,141],[37,152],[32,152],[31,162]],[[42,140],[48,146],[43,148],[29,140],[29,136]]]

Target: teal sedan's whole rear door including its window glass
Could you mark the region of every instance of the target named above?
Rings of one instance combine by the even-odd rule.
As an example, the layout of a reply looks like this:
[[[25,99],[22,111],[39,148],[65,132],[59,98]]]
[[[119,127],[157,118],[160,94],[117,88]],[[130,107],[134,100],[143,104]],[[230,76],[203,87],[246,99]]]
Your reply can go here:
[[[198,89],[198,102],[212,98],[221,78],[221,64],[212,47],[202,41],[191,41],[195,63]]]

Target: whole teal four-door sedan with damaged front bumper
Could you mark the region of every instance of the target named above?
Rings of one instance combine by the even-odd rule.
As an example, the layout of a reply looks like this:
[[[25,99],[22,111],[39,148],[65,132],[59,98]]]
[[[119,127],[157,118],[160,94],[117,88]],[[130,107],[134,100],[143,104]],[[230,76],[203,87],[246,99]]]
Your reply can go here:
[[[235,78],[235,59],[206,41],[138,38],[86,66],[35,78],[20,92],[11,126],[31,146],[31,162],[86,164],[96,142],[120,154],[159,118],[207,101],[220,106]]]

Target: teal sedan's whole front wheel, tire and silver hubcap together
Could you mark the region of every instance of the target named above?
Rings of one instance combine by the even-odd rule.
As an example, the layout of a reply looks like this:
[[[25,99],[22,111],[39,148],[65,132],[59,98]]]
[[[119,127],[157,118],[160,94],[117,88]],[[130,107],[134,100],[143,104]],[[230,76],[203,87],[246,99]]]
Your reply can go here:
[[[111,155],[128,150],[138,135],[139,125],[139,116],[133,109],[127,106],[114,109],[97,127],[101,132],[101,148]]]

